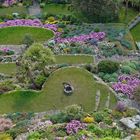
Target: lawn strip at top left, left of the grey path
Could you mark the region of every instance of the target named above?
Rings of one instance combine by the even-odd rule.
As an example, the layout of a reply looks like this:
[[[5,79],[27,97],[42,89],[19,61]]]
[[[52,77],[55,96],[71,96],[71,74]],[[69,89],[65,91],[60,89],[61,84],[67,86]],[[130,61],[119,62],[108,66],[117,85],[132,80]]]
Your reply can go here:
[[[27,9],[23,6],[0,8],[0,16],[12,15],[12,13],[27,14]]]

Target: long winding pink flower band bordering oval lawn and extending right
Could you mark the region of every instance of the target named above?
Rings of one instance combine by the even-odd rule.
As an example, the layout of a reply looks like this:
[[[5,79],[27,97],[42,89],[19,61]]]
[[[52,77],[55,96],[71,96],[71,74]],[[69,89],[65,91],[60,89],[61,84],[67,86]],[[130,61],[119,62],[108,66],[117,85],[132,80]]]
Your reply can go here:
[[[0,28],[11,27],[11,26],[31,26],[31,27],[41,27],[47,28],[55,32],[56,39],[55,41],[58,43],[63,42],[84,42],[89,39],[102,40],[105,38],[104,32],[91,32],[89,34],[83,34],[79,36],[74,36],[70,38],[61,38],[60,35],[62,32],[58,31],[58,26],[56,24],[43,24],[39,19],[16,19],[16,20],[8,20],[4,23],[0,23]]]

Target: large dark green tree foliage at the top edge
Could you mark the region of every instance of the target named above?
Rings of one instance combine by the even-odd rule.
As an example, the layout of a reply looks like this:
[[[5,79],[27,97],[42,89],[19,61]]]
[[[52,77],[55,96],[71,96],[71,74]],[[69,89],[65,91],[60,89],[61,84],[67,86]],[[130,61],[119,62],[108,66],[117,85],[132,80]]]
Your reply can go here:
[[[82,12],[92,22],[118,19],[118,8],[112,0],[72,0],[72,5],[77,12]]]

